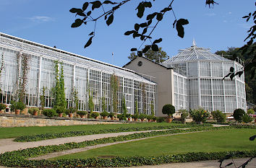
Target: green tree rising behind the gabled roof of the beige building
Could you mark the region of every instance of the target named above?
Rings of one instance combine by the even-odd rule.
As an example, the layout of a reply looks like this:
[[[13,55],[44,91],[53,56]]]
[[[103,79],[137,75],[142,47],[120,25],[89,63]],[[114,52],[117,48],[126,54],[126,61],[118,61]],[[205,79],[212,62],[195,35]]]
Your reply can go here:
[[[167,56],[167,53],[162,50],[162,48],[159,48],[158,51],[153,51],[152,49],[149,49],[147,53],[144,54],[144,56],[152,61],[155,61],[156,63],[162,63],[163,61],[166,61],[169,56]],[[137,57],[136,53],[132,52],[128,56],[130,60]]]

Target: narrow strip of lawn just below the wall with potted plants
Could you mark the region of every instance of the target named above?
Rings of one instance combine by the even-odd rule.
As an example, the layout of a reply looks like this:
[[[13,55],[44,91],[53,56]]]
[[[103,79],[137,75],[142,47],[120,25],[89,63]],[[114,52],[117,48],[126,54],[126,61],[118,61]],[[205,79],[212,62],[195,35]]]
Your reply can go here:
[[[174,123],[172,123],[174,124]],[[129,123],[129,124],[98,124],[98,125],[70,125],[70,126],[46,126],[46,127],[14,127],[0,128],[0,138],[17,138],[41,133],[64,133],[68,131],[96,131],[102,129],[147,127],[156,125],[170,125],[170,123]]]

